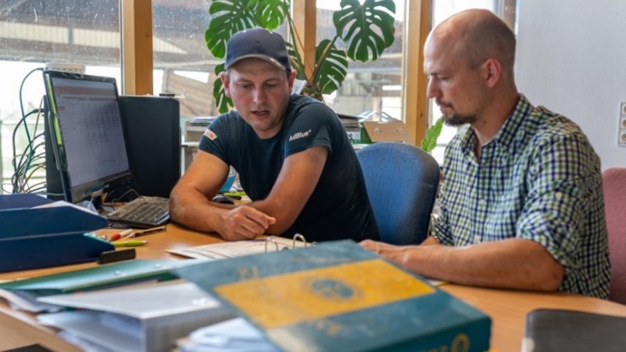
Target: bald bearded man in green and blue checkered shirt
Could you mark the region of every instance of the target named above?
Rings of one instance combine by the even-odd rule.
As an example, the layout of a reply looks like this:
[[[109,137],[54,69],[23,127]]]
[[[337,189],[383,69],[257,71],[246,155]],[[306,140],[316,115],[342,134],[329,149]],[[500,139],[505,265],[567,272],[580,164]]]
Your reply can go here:
[[[607,298],[600,159],[574,122],[517,92],[514,61],[515,35],[487,10],[431,31],[427,95],[460,127],[445,152],[442,213],[419,246],[361,245],[429,278]]]

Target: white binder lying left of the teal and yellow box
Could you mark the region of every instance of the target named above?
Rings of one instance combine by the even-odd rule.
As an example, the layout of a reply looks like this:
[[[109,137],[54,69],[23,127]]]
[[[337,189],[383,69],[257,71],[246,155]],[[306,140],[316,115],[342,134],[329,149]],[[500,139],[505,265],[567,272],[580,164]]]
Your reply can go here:
[[[191,331],[232,318],[214,298],[182,280],[38,301],[78,309],[39,314],[38,319],[63,330],[68,341],[102,351],[170,351],[176,339]]]

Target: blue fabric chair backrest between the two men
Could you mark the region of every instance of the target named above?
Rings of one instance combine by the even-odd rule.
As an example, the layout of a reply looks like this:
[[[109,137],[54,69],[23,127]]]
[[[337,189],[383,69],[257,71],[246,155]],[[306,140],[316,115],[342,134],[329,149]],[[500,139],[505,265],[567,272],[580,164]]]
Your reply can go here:
[[[415,145],[396,142],[367,145],[357,156],[381,241],[424,241],[439,185],[437,161]]]

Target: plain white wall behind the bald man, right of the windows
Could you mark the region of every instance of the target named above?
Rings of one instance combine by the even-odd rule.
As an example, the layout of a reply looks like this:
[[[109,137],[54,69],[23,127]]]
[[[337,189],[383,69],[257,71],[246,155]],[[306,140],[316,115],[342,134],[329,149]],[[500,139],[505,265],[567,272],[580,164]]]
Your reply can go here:
[[[626,1],[517,0],[517,88],[574,120],[602,159],[626,167],[618,146],[626,102]]]

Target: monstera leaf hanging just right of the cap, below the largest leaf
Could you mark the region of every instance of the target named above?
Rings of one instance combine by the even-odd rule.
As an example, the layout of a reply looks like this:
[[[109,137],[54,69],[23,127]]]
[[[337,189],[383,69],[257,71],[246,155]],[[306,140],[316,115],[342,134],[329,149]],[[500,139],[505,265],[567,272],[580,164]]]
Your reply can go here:
[[[328,50],[326,59],[320,62],[319,59],[326,50]],[[315,49],[315,62],[319,65],[315,79],[319,91],[322,94],[330,94],[337,90],[348,73],[346,51],[337,49],[334,44],[331,45],[330,40],[324,39]]]

